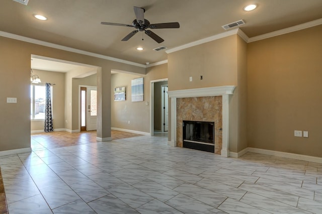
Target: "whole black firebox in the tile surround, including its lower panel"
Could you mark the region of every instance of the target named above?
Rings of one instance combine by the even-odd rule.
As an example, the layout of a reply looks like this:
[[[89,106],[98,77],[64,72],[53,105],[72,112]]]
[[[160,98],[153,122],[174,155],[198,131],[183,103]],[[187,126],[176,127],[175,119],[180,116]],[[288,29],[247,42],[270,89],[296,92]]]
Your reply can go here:
[[[183,121],[183,147],[215,152],[214,122]]]

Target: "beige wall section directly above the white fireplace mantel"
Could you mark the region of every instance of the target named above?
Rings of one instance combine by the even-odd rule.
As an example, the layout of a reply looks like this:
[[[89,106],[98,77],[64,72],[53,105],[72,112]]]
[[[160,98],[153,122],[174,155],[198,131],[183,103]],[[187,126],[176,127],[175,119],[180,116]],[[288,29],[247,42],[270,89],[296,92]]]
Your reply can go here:
[[[170,53],[169,90],[237,85],[236,37],[232,35]]]

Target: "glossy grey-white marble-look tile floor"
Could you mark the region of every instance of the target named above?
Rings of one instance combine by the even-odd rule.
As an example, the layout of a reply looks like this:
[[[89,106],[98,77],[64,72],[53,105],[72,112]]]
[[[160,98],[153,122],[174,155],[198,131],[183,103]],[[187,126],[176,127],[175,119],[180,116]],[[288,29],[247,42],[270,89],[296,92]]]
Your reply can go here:
[[[170,147],[166,136],[0,158],[14,213],[322,213],[322,164]]]

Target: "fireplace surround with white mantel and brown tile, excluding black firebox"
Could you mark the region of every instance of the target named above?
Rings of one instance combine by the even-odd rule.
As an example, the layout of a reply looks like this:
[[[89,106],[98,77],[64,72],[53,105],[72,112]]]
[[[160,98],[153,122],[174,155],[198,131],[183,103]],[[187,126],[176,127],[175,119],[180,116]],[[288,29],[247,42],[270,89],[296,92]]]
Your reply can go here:
[[[183,121],[214,121],[214,153],[229,157],[229,95],[235,87],[168,91],[171,98],[171,141],[168,144],[183,147]]]

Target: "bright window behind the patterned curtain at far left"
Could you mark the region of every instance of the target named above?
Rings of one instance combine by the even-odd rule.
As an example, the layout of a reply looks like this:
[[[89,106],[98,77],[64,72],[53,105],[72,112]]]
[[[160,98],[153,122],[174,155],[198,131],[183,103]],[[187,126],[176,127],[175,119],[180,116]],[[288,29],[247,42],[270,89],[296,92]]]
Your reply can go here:
[[[50,86],[52,106],[52,86]],[[30,85],[30,119],[45,120],[46,87]]]

